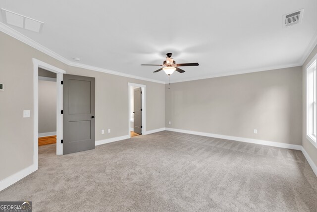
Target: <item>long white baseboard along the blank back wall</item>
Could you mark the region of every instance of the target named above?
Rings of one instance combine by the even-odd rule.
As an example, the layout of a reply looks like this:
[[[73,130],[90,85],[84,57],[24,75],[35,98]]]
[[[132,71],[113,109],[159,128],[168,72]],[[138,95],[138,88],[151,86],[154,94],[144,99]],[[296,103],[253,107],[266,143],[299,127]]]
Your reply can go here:
[[[224,135],[218,135],[218,134],[212,134],[212,133],[203,133],[203,132],[197,132],[197,131],[180,130],[180,129],[174,129],[174,128],[165,128],[165,130],[178,132],[178,133],[187,133],[187,134],[198,135],[198,136],[212,137],[212,138],[217,138],[217,139],[226,139],[226,140],[241,141],[241,142],[247,142],[247,143],[256,143],[256,144],[267,145],[267,146],[289,148],[289,149],[295,149],[295,150],[301,150],[302,149],[301,145],[289,144],[289,143],[280,143],[280,142],[274,142],[274,141],[264,141],[264,140],[258,140],[258,139],[248,139],[248,138],[235,137],[235,136],[224,136]]]

